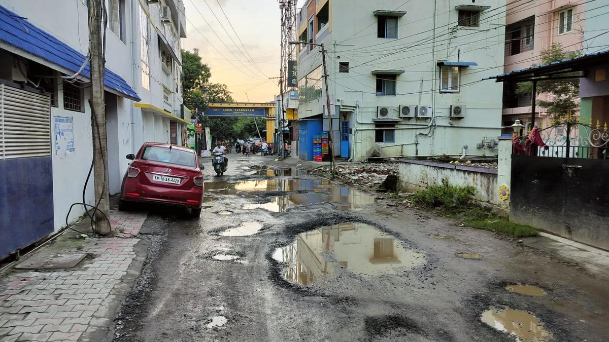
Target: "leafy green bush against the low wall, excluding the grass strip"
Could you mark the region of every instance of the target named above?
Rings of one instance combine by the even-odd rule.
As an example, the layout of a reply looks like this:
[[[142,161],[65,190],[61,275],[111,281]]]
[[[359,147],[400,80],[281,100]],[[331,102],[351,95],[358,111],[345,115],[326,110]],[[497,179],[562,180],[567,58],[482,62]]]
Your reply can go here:
[[[473,186],[453,186],[443,179],[442,185],[432,185],[420,190],[412,196],[412,200],[423,206],[454,211],[469,204],[475,192]]]

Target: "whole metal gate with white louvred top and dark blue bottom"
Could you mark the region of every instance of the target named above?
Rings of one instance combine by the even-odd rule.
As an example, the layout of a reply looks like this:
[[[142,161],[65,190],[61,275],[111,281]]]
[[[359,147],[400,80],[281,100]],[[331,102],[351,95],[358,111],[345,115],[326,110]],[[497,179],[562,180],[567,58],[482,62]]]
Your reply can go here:
[[[0,258],[54,230],[51,99],[0,84]]]

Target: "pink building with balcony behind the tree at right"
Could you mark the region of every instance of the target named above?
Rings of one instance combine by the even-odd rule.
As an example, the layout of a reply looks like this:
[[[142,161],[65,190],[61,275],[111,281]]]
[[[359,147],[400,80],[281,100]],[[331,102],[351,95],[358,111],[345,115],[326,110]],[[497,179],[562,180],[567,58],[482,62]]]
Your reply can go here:
[[[529,68],[541,63],[541,51],[552,43],[561,43],[568,51],[582,49],[584,0],[509,0],[505,13],[505,67],[504,72]],[[538,99],[546,100],[541,94]],[[552,118],[544,108],[537,106],[535,122],[543,127]],[[504,84],[503,125],[510,126],[520,119],[530,124],[531,96],[515,94],[515,85]],[[510,133],[504,129],[504,133]]]

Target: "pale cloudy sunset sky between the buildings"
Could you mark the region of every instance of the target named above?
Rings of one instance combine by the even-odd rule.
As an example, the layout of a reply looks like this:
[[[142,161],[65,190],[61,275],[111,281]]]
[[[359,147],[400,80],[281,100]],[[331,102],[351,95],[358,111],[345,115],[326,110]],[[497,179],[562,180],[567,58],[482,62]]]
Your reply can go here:
[[[199,49],[211,82],[225,83],[236,101],[272,101],[279,93],[278,80],[269,80],[280,68],[278,0],[183,1],[188,37],[182,47]]]

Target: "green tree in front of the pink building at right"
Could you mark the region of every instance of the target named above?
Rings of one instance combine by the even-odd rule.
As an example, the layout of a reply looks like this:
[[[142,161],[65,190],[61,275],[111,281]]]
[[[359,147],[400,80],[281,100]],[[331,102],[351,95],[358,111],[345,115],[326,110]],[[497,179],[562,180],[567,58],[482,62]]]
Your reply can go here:
[[[577,51],[565,51],[562,44],[552,43],[549,49],[541,51],[541,63],[547,64],[554,61],[570,59],[580,55]],[[563,75],[577,75],[571,72]],[[532,82],[518,83],[516,94],[527,95],[533,91]],[[560,121],[571,111],[579,110],[579,79],[547,80],[537,82],[537,94],[549,94],[550,99],[537,100],[537,104],[546,108],[547,113]]]

